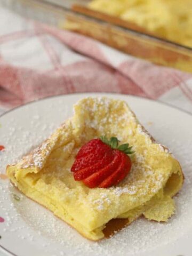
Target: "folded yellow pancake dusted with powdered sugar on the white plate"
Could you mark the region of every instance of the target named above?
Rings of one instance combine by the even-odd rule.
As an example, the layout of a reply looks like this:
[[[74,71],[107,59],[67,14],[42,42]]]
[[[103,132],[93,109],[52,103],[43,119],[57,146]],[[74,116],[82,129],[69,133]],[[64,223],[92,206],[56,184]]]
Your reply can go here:
[[[180,164],[170,151],[154,141],[124,101],[85,98],[74,110],[42,145],[7,166],[11,182],[94,241],[105,236],[112,219],[131,223],[144,215],[167,221],[175,210],[172,197],[183,183]],[[116,186],[89,188],[74,180],[70,168],[79,148],[103,135],[133,146],[132,168]]]

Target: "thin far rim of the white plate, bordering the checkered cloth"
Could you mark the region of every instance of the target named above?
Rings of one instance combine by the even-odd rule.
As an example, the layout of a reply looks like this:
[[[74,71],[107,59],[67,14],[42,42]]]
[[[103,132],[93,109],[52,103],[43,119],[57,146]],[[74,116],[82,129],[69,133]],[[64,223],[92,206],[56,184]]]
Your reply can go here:
[[[133,98],[138,98],[138,99],[142,99],[142,100],[149,100],[151,102],[159,103],[159,105],[164,105],[164,106],[179,110],[182,113],[186,113],[189,116],[192,116],[192,113],[190,113],[190,111],[184,110],[184,109],[182,109],[180,107],[177,107],[177,106],[173,106],[170,103],[163,102],[161,100],[155,100],[155,99],[150,99],[150,98],[146,98],[146,97],[142,97],[142,96],[137,96],[137,95],[133,95],[133,94],[116,93],[116,92],[71,92],[71,93],[61,93],[61,94],[57,94],[57,95],[46,96],[46,97],[43,97],[43,98],[38,98],[38,99],[35,99],[35,100],[28,101],[28,102],[23,103],[19,106],[16,106],[16,107],[13,107],[9,110],[6,110],[3,114],[0,115],[0,118],[2,116],[6,115],[6,114],[9,114],[11,111],[14,111],[15,109],[25,107],[26,105],[29,105],[31,103],[35,103],[35,102],[38,102],[38,101],[43,101],[43,100],[46,100],[46,99],[57,98],[57,97],[67,96],[67,95],[74,95],[74,94],[90,94],[91,95],[93,93],[94,94],[103,94],[103,96],[108,95],[108,94],[116,94],[116,95],[119,95],[119,96],[131,96]]]

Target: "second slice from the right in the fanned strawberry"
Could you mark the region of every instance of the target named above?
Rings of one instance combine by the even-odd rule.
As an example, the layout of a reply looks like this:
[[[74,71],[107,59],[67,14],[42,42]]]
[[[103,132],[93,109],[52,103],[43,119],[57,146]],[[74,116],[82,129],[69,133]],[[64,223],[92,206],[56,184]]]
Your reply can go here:
[[[110,175],[116,170],[120,162],[121,162],[121,153],[120,151],[117,151],[113,161],[110,164],[108,164],[103,169],[93,173],[91,176],[84,179],[83,183],[89,188],[98,187],[98,185],[102,182],[102,180],[105,180],[106,177],[108,177],[108,175]]]

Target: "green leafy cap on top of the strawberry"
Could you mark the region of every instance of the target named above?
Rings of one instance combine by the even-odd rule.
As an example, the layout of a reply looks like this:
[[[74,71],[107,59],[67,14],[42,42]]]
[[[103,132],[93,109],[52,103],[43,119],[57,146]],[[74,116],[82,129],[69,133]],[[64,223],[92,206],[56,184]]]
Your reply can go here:
[[[118,146],[118,142],[120,142],[116,137],[111,137],[110,140],[107,139],[106,136],[101,136],[100,139],[103,143],[106,143],[113,149],[118,149],[123,151],[126,155],[133,154],[134,151],[132,151],[132,146],[129,147],[129,143],[122,144]]]

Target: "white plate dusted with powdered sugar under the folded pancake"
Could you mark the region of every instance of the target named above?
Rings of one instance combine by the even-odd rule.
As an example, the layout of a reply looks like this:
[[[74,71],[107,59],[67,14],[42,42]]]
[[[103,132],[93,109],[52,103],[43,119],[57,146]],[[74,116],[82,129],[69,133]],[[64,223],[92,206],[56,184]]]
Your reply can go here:
[[[0,222],[1,247],[18,256],[191,256],[192,116],[178,109],[147,99],[100,93],[61,95],[29,103],[0,117],[0,145],[5,146],[0,154],[0,172],[4,173],[8,163],[37,146],[70,117],[77,100],[90,95],[128,102],[149,132],[179,159],[186,179],[175,197],[176,214],[167,223],[141,218],[110,239],[91,242],[43,206],[21,195],[9,180],[1,179],[0,217],[5,219]]]

